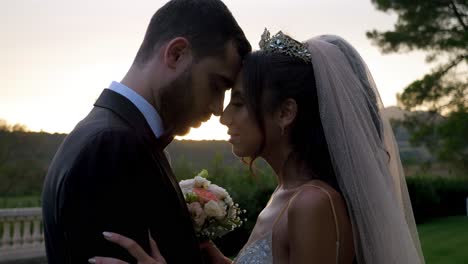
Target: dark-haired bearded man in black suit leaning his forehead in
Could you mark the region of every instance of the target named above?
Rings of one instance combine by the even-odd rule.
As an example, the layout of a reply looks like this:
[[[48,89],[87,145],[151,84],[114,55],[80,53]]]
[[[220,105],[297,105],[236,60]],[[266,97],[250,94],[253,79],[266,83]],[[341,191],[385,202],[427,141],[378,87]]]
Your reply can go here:
[[[49,263],[135,261],[103,231],[147,252],[149,231],[168,263],[203,263],[163,151],[175,135],[221,114],[250,50],[220,0],[172,0],[154,14],[125,77],[104,89],[50,165],[42,194]]]

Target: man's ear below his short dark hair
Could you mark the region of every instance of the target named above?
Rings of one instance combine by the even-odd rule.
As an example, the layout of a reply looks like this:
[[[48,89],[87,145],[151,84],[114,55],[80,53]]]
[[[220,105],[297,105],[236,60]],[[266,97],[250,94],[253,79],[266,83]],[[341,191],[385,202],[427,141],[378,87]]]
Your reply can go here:
[[[177,37],[165,45],[164,64],[171,69],[176,69],[181,64],[186,64],[192,59],[190,43],[186,38]]]

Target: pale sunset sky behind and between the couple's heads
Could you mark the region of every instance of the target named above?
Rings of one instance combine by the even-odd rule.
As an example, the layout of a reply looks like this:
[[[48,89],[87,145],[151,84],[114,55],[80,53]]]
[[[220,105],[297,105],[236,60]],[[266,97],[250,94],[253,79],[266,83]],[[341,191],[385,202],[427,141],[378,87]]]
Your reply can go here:
[[[33,131],[70,132],[102,89],[122,79],[151,16],[166,2],[0,1],[0,119]],[[384,55],[371,44],[366,30],[391,29],[396,15],[377,11],[370,0],[224,2],[254,49],[265,27],[298,40],[344,37],[367,62],[385,106],[431,68],[424,53]],[[226,139],[226,128],[212,118],[182,138]]]

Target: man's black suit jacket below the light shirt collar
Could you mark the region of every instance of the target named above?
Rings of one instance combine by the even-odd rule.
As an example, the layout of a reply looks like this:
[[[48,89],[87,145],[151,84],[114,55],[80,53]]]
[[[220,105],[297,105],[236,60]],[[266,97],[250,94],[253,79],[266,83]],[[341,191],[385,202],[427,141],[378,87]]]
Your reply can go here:
[[[43,221],[51,264],[93,256],[135,260],[104,239],[128,236],[149,252],[151,230],[169,264],[203,263],[183,195],[139,110],[105,89],[65,138],[46,176]]]

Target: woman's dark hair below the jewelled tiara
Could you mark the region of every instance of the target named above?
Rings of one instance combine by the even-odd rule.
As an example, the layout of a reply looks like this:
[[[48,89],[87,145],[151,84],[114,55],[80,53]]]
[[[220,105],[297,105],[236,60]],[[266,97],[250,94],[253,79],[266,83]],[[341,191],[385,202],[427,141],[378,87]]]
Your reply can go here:
[[[314,69],[301,59],[255,51],[246,56],[242,68],[245,102],[260,131],[265,147],[264,114],[278,109],[286,99],[296,101],[297,114],[290,130],[293,155],[303,161],[311,174],[339,191],[318,109]]]

